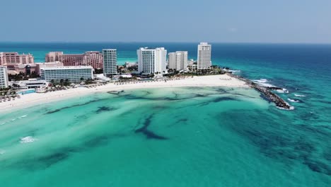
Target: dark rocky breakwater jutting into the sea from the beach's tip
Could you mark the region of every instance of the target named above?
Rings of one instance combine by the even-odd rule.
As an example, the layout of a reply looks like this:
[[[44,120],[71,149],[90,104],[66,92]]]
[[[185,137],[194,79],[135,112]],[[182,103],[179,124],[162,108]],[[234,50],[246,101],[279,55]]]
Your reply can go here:
[[[268,98],[269,101],[272,101],[273,103],[275,103],[277,108],[285,109],[285,110],[293,110],[294,109],[294,106],[289,105],[289,103],[284,101],[284,99],[277,96],[277,94],[274,94],[271,91],[274,88],[260,86],[258,84],[255,84],[255,82],[251,81],[250,79],[245,79],[244,77],[240,77],[240,76],[235,75],[235,74],[228,73],[228,76],[236,78],[236,79],[240,79],[241,81],[245,81],[245,83],[248,84],[248,86],[250,86],[251,88],[253,88],[257,91],[260,91],[260,93],[262,93],[266,98]]]

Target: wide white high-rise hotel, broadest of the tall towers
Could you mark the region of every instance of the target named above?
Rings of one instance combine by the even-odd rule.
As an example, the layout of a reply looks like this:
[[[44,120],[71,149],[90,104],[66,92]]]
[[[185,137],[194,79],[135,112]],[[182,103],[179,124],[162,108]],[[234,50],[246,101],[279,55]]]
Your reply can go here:
[[[164,47],[156,49],[141,47],[137,50],[137,55],[139,73],[156,75],[165,73],[167,50]]]

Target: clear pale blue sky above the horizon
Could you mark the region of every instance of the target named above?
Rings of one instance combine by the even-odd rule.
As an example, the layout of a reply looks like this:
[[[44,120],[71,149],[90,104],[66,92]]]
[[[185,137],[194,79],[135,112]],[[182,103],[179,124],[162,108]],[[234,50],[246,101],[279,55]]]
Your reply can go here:
[[[0,9],[0,41],[331,43],[330,0],[10,0]]]

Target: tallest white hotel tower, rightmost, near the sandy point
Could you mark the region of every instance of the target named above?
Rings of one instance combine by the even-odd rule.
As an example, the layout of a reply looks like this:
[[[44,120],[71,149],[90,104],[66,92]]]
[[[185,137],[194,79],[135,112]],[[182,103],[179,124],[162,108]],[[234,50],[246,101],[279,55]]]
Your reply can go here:
[[[197,69],[209,69],[211,67],[211,45],[200,42],[198,45]]]

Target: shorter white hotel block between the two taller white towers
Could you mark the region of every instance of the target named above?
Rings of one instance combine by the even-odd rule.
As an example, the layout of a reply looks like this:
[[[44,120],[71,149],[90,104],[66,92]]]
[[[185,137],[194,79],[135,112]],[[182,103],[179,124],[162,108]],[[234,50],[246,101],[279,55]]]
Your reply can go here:
[[[187,70],[187,51],[169,52],[168,65],[169,69],[177,71]]]

